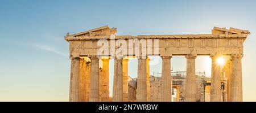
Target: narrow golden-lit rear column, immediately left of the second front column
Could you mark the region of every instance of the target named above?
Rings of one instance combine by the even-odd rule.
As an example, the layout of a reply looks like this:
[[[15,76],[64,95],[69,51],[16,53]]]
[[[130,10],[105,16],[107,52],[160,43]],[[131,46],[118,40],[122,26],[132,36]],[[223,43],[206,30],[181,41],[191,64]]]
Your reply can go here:
[[[90,62],[85,63],[85,101],[89,102],[90,95]]]

